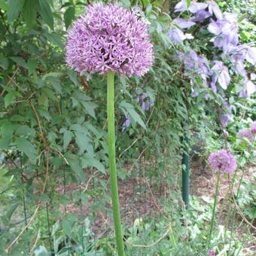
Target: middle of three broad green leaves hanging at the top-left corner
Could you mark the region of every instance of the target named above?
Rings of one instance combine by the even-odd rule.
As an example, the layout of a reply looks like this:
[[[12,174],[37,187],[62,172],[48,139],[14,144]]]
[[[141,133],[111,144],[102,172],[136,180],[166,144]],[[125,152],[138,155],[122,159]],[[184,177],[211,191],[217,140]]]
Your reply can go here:
[[[25,0],[23,6],[23,17],[26,25],[31,29],[35,25],[38,0]]]

